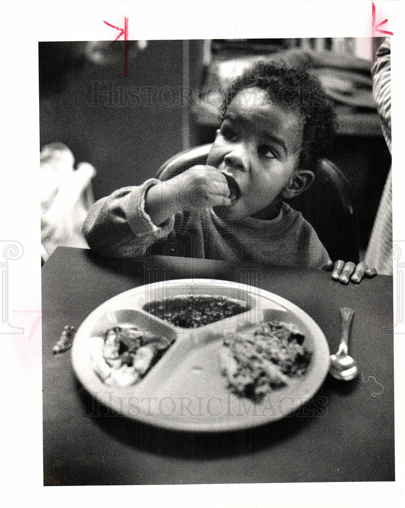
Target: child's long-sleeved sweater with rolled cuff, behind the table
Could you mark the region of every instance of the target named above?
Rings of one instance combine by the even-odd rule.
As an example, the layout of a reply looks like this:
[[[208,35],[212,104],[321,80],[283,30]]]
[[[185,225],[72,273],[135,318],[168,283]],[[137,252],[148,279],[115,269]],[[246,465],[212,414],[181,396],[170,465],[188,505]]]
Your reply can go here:
[[[322,268],[329,256],[312,226],[283,203],[272,220],[225,221],[212,208],[178,212],[160,226],[145,212],[147,190],[158,180],[124,187],[90,209],[83,234],[90,248],[115,258],[152,253],[264,265]]]

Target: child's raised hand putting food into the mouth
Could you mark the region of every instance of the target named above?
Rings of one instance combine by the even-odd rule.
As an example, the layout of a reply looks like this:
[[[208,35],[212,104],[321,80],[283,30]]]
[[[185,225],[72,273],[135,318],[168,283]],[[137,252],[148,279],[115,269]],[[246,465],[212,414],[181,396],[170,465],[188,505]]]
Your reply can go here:
[[[213,166],[193,166],[172,178],[178,186],[178,202],[183,211],[230,206],[225,176]]]

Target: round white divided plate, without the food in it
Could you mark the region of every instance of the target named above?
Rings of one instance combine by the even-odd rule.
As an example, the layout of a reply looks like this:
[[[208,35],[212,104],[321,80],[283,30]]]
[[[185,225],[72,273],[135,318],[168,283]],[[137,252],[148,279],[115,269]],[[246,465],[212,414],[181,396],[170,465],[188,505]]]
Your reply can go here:
[[[199,328],[168,324],[145,312],[147,302],[177,295],[212,295],[245,301],[250,310]],[[294,323],[312,352],[308,370],[287,387],[275,389],[260,402],[227,389],[218,353],[221,333],[262,319]],[[175,342],[139,383],[121,388],[105,385],[90,365],[88,346],[109,328],[135,325]],[[73,367],[82,385],[105,406],[133,420],[172,430],[215,432],[245,429],[280,420],[309,401],[328,372],[329,348],[319,326],[303,310],[259,288],[211,279],[155,282],[121,293],[97,307],[78,329]]]

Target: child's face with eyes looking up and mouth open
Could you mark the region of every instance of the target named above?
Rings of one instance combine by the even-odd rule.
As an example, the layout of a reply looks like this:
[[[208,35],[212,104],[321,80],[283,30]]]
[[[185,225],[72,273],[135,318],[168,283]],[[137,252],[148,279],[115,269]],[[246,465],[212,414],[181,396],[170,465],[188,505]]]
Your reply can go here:
[[[221,209],[223,218],[277,215],[282,190],[298,167],[302,130],[298,115],[260,88],[245,88],[233,98],[207,160],[240,186],[240,198]]]

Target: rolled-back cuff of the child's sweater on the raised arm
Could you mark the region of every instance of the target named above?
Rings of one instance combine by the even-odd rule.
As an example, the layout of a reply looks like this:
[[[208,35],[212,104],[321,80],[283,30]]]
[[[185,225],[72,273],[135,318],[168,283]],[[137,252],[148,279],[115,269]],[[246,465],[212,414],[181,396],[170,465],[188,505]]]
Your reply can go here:
[[[160,226],[156,226],[145,211],[146,193],[157,183],[160,183],[160,180],[150,178],[139,187],[135,187],[129,194],[125,207],[125,215],[129,227],[136,235],[153,233],[156,238],[164,238],[173,229],[175,222],[174,215],[164,221]]]

